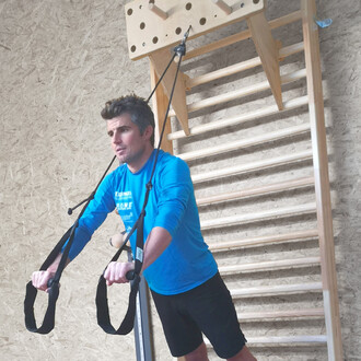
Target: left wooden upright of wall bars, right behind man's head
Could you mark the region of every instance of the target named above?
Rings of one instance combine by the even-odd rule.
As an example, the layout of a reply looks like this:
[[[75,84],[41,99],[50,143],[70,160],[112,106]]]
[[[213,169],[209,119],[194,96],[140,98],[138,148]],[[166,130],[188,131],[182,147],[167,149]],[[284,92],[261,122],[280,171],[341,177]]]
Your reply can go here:
[[[159,77],[158,77],[155,69],[151,61],[150,61],[150,77],[151,77],[151,88],[154,89],[156,82],[159,81]],[[162,86],[158,86],[155,93],[153,94],[152,103],[153,103],[153,113],[154,113],[154,118],[155,118],[154,147],[158,147],[162,127],[163,127],[163,121],[166,121],[161,148],[165,152],[173,154],[173,142],[171,140],[168,140],[168,138],[167,138],[167,135],[172,131],[171,119],[170,119],[170,117],[166,120],[164,119],[165,113],[167,109],[168,97],[164,93],[164,89]]]

